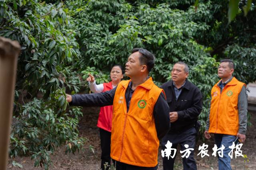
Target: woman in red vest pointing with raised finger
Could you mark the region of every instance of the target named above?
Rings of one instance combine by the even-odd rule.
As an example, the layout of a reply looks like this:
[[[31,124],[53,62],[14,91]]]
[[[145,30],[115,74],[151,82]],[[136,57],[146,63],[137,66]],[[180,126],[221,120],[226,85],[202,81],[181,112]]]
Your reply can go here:
[[[124,77],[122,66],[114,65],[110,71],[111,82],[96,84],[94,76],[89,74],[86,79],[89,82],[89,88],[94,93],[105,92],[115,88]],[[112,127],[112,106],[100,107],[100,114],[97,126],[100,128],[100,146],[101,146],[101,169],[108,170],[110,167],[110,141]],[[108,167],[106,167],[108,163]],[[104,166],[105,164],[105,166]],[[106,168],[105,168],[106,167]]]

